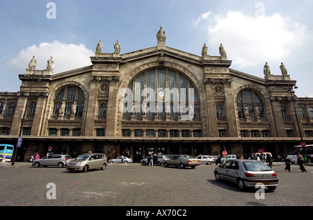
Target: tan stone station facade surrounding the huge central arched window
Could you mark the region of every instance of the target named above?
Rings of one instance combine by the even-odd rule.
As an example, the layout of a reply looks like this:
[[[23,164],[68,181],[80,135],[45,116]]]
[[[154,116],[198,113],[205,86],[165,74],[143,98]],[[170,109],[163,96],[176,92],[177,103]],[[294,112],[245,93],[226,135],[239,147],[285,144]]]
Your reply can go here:
[[[295,96],[294,90],[290,93],[286,87],[293,87],[296,81],[288,75],[258,78],[230,69],[232,61],[221,56],[200,57],[167,46],[121,55],[96,52],[90,59],[93,65],[60,74],[42,75],[42,70],[35,70],[35,75],[31,75],[26,69],[25,74],[19,75],[22,81],[19,92],[0,93],[1,142],[14,143],[24,121],[22,135],[26,137],[23,142],[26,150],[21,151],[24,160],[36,151],[45,155],[48,146],[54,146],[54,153],[76,156],[97,151],[111,158],[121,153],[145,157],[152,151],[216,155],[224,149],[247,157],[259,148],[282,155],[291,146],[298,145],[298,117],[301,134],[307,144],[312,143],[313,99],[291,99]],[[123,91],[129,83],[145,71],[159,68],[176,71],[193,85],[199,97],[199,117],[182,120],[123,115],[120,103],[125,99]],[[70,87],[76,92],[81,90],[83,100],[77,94],[73,100],[67,99],[67,94],[62,99],[56,98],[61,90],[72,90]],[[244,103],[237,101],[237,97],[243,90],[262,99],[262,103],[257,104],[264,108],[263,115],[252,117],[255,113],[250,110],[250,116],[246,117],[239,112]],[[155,92],[157,100],[158,91]],[[77,107],[81,115],[70,112],[71,101],[77,106],[83,103]],[[10,103],[15,103],[15,113],[9,116]],[[36,103],[33,113],[29,110],[31,103]],[[56,103],[67,105],[68,111],[65,108],[65,113],[58,114]],[[222,110],[221,115],[216,113],[217,106]],[[286,117],[282,117],[282,106]],[[304,113],[298,111],[299,107]],[[106,114],[99,115],[99,108]],[[123,130],[129,130],[129,135],[123,135]],[[141,130],[140,137],[136,137],[138,130]],[[162,137],[159,137],[160,130],[165,130]],[[173,130],[177,130],[177,137],[171,137]],[[194,130],[200,130],[200,137],[194,137]],[[146,137],[147,133],[152,137]]]

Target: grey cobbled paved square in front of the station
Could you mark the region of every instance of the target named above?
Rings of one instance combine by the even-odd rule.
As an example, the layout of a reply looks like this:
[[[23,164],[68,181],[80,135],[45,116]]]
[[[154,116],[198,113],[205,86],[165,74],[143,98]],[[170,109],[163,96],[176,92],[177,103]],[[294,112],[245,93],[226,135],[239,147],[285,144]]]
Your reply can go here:
[[[294,206],[313,205],[313,166],[307,173],[297,164],[291,172],[274,163],[279,186],[256,199],[255,191],[242,192],[232,183],[218,183],[215,164],[195,169],[109,164],[106,170],[69,173],[65,168],[0,164],[0,205],[52,206]],[[56,186],[56,199],[47,199],[48,183]],[[50,191],[51,192],[51,191]],[[52,195],[52,194],[50,194]]]

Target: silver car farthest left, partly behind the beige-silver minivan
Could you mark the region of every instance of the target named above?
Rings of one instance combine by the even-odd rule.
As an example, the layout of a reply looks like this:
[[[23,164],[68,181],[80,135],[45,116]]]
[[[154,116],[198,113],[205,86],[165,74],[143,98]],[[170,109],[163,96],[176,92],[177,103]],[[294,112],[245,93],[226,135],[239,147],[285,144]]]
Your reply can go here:
[[[33,160],[31,163],[34,167],[40,166],[58,166],[60,168],[67,166],[68,162],[72,161],[73,158],[70,155],[63,155],[63,154],[52,154],[47,155],[44,158]]]

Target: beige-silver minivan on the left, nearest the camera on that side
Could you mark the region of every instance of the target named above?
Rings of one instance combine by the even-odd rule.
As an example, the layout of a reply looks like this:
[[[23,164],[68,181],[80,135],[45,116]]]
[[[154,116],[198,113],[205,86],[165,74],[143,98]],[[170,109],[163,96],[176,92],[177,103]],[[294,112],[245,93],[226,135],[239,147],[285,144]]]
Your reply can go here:
[[[89,169],[106,169],[108,159],[103,153],[84,153],[67,164],[66,169],[69,172],[83,171],[87,172]]]

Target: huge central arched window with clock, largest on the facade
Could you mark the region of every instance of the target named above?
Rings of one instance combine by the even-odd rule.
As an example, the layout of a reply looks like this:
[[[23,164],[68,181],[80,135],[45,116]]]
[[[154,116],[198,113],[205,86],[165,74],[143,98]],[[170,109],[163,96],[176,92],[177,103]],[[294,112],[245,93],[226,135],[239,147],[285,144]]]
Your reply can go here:
[[[136,76],[128,85],[124,103],[125,117],[200,117],[195,86],[179,71],[163,67]]]

